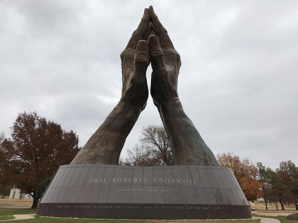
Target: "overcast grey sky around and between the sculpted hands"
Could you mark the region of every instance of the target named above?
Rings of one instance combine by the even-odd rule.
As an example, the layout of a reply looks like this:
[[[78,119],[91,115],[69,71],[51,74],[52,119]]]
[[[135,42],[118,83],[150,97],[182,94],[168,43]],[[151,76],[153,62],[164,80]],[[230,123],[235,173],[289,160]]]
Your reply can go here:
[[[151,4],[181,56],[184,111],[213,153],[298,165],[296,0],[1,0],[0,131],[37,111],[83,146],[120,99],[119,55]],[[162,124],[150,95],[122,156],[148,124]]]

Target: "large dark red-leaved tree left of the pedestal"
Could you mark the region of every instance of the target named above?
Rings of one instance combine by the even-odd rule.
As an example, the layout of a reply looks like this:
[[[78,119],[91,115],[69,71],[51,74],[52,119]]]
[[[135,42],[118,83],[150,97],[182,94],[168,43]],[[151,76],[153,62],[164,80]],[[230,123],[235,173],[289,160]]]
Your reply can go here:
[[[36,208],[38,185],[60,165],[72,161],[80,150],[78,136],[36,112],[19,113],[11,136],[1,143],[0,169],[5,170],[10,185],[33,197],[32,208]]]

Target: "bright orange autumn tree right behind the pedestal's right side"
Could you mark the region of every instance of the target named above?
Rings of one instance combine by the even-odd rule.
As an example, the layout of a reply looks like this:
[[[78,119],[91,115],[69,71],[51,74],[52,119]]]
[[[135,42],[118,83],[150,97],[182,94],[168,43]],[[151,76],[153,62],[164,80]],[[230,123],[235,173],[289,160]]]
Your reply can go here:
[[[249,201],[257,200],[257,197],[261,197],[260,182],[257,180],[257,168],[249,161],[249,159],[234,155],[228,152],[223,154],[217,154],[217,161],[219,165],[229,167],[235,174],[235,177],[243,190],[246,198]]]

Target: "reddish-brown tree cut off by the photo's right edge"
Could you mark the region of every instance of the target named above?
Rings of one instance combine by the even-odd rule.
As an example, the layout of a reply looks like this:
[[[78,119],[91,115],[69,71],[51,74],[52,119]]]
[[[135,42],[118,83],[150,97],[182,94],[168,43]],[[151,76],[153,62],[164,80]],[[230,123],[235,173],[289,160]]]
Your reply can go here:
[[[284,202],[286,204],[295,204],[296,210],[298,210],[298,196],[295,192],[298,188],[298,168],[291,160],[288,160],[280,162],[276,172],[280,176],[282,183],[288,188],[288,191],[283,195]]]

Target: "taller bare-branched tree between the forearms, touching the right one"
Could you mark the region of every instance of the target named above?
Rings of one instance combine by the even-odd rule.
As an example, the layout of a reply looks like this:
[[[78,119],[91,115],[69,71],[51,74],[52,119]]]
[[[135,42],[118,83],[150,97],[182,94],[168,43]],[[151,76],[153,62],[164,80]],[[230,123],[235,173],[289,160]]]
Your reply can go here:
[[[143,127],[139,141],[142,147],[152,155],[151,158],[160,160],[158,165],[173,165],[170,141],[163,126],[148,125]]]

